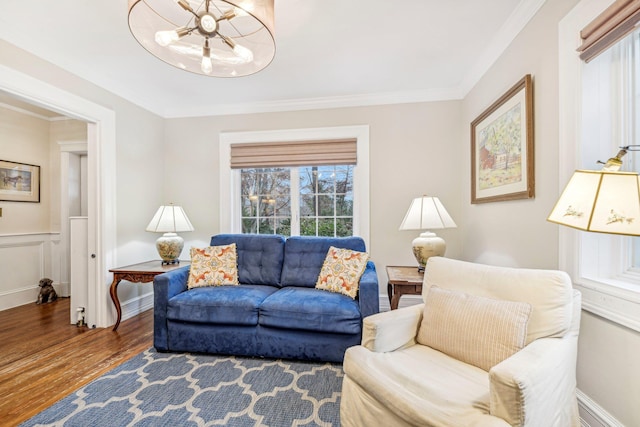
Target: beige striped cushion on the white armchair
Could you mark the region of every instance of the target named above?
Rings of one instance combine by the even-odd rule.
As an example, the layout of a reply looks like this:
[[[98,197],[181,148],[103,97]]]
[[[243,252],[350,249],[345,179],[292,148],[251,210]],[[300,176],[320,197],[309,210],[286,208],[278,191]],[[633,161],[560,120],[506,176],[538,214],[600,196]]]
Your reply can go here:
[[[417,341],[489,371],[522,350],[531,305],[432,286]]]

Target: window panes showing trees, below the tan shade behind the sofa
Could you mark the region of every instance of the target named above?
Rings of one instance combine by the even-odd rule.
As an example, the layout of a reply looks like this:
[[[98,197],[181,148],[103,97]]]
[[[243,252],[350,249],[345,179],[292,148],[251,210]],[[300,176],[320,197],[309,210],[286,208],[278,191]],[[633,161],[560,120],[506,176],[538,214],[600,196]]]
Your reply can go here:
[[[353,165],[240,171],[242,232],[353,235]]]

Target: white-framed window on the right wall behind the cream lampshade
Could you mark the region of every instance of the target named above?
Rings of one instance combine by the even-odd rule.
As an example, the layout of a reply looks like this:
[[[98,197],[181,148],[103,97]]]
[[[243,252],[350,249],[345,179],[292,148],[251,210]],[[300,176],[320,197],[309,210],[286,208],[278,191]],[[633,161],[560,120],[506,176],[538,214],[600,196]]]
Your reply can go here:
[[[560,23],[560,189],[575,169],[599,169],[619,146],[639,144],[640,32],[627,35],[588,63],[576,34],[602,12],[581,2]],[[606,7],[606,5],[605,5]],[[638,171],[639,153],[624,169]],[[583,308],[640,331],[638,237],[559,228],[560,268],[582,292]]]

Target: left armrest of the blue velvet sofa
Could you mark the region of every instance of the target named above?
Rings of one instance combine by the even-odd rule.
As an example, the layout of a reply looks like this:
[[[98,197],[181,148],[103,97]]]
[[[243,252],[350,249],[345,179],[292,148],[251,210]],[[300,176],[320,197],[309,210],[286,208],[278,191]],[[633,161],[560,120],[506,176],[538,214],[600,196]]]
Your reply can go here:
[[[188,279],[188,265],[153,278],[153,345],[158,351],[169,350],[167,307],[172,297],[187,290]]]

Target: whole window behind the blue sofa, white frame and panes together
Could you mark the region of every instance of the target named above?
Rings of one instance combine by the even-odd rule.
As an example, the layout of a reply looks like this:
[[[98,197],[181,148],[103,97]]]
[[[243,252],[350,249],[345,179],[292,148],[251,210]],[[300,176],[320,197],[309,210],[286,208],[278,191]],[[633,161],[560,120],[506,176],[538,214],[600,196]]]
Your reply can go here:
[[[333,159],[332,165],[318,160],[316,164],[247,167],[240,161],[230,167],[235,158],[232,150],[239,145],[340,139],[355,141],[356,164]],[[220,200],[220,232],[356,235],[368,245],[369,127],[222,133]]]

